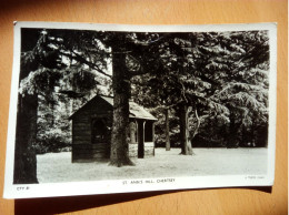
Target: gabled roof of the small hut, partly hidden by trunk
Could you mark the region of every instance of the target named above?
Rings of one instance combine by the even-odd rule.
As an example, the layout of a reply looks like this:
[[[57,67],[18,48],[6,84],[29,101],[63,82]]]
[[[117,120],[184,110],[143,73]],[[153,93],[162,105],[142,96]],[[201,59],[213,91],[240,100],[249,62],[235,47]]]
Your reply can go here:
[[[104,95],[96,95],[91,100],[89,100],[87,103],[84,103],[80,109],[78,109],[72,115],[69,116],[69,120],[73,119],[73,116],[79,113],[84,106],[89,105],[91,101],[101,98],[106,102],[108,102],[111,106],[113,106],[113,98],[104,96]],[[143,120],[152,120],[157,121],[151,113],[149,113],[143,106],[137,104],[136,102],[130,101],[129,102],[129,117],[131,119],[143,119]]]

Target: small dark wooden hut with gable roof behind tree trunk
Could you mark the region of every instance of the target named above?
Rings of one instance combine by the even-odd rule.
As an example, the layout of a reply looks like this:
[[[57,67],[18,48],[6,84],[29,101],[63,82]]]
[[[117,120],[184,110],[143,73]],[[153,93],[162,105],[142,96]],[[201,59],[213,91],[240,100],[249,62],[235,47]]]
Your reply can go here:
[[[134,102],[129,102],[129,156],[153,156],[157,119]],[[109,158],[112,114],[113,98],[96,95],[69,117],[72,120],[72,162]]]

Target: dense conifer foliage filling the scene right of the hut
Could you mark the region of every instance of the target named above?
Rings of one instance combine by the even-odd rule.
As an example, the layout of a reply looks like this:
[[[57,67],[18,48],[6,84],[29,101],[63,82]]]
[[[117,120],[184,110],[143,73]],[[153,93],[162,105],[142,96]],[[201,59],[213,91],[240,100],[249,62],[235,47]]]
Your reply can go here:
[[[193,146],[267,146],[267,32],[191,33],[173,43],[162,72],[134,79],[136,100],[159,115],[157,144],[167,141],[165,106],[172,110],[171,143],[180,145],[177,113],[186,103]]]

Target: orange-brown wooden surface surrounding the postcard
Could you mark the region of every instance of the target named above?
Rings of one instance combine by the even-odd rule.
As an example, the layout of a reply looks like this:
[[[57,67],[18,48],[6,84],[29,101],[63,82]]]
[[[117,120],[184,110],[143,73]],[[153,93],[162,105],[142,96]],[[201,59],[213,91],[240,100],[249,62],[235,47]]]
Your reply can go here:
[[[209,188],[21,201],[1,198],[0,214],[288,214],[287,0],[1,1],[0,193],[3,191],[14,20],[129,24],[278,22],[276,180],[271,188]]]

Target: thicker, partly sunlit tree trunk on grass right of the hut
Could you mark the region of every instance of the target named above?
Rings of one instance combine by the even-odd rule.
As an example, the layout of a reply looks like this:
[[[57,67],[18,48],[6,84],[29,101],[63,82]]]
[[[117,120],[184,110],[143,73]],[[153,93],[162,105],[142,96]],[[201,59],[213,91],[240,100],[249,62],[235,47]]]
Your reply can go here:
[[[181,153],[183,155],[192,155],[191,140],[189,132],[189,108],[187,104],[180,105],[180,142]]]

